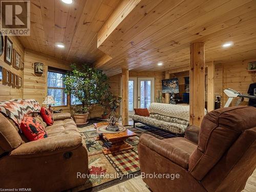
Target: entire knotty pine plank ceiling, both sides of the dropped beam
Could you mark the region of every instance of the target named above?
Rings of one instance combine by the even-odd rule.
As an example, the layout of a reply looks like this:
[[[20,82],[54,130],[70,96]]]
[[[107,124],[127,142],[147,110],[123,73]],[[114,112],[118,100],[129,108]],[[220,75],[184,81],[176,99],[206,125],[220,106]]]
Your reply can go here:
[[[93,63],[109,76],[189,65],[191,42],[205,42],[206,61],[255,58],[255,0],[31,1],[25,48],[74,62]],[[223,48],[225,42],[233,46]],[[66,48],[57,49],[56,42]],[[162,62],[162,66],[157,66]]]

